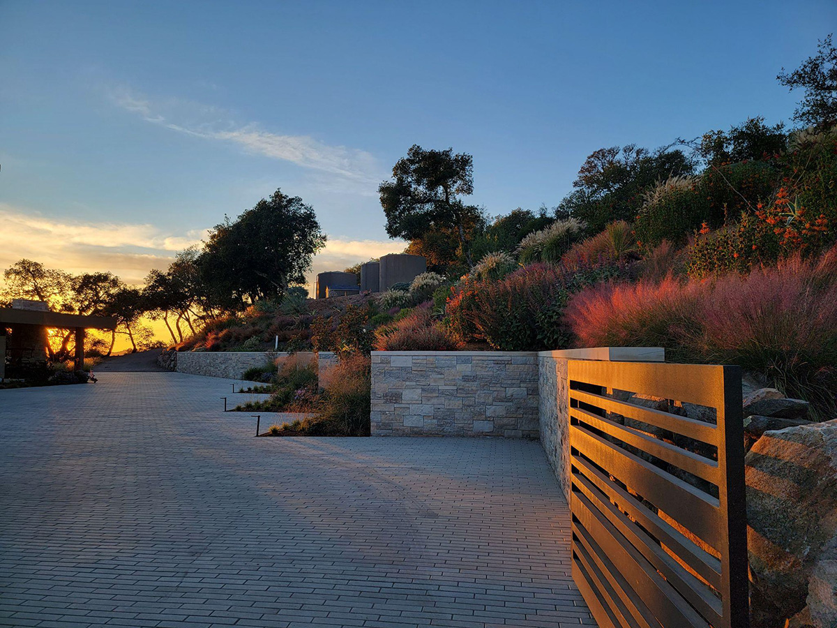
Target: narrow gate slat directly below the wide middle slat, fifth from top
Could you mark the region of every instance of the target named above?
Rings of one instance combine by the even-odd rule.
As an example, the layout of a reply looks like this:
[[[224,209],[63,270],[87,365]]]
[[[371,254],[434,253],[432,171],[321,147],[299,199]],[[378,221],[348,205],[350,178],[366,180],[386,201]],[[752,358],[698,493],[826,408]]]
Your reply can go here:
[[[694,569],[701,578],[716,589],[721,588],[721,561],[711,553],[696,545],[690,538],[671,526],[669,522],[660,518],[660,515],[650,511],[639,500],[625,491],[624,488],[611,481],[601,471],[598,471],[588,461],[579,456],[573,456],[573,467],[592,482],[598,489],[604,492],[610,499],[617,503],[619,508],[629,513],[631,517],[639,522],[643,528],[649,530],[655,538],[664,543],[680,559],[683,559],[691,569]],[[576,474],[573,474],[576,475]],[[574,479],[574,478],[573,478]]]

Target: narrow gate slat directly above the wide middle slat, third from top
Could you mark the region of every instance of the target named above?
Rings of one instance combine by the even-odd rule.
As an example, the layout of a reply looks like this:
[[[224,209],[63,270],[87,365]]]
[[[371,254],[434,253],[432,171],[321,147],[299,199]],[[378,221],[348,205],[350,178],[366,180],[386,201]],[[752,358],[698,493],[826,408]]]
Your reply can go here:
[[[632,427],[604,419],[587,410],[572,408],[570,409],[570,416],[574,416],[578,420],[593,425],[597,430],[602,430],[608,435],[615,436],[628,445],[633,445],[637,449],[649,453],[651,456],[660,458],[660,460],[679,467],[683,471],[688,471],[693,476],[700,477],[716,486],[718,481],[720,481],[718,463],[716,461],[712,461],[691,451],[680,449],[677,445],[666,443],[665,440],[659,440],[654,438],[654,436],[645,435],[639,430],[634,430]]]

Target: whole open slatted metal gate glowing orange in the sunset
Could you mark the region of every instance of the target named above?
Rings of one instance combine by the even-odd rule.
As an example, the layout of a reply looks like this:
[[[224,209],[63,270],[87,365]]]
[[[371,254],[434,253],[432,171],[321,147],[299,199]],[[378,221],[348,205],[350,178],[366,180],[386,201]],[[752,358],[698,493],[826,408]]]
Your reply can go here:
[[[741,369],[567,368],[573,579],[600,628],[747,628]],[[716,424],[614,390],[714,408]]]

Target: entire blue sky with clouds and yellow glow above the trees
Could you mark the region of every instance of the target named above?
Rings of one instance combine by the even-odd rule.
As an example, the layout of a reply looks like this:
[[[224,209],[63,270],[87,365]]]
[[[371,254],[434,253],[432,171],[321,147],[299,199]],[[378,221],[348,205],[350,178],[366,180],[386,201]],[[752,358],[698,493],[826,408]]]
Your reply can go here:
[[[829,25],[833,0],[0,0],[0,268],[139,281],[275,188],[341,268],[403,248],[377,183],[413,143],[474,155],[490,214],[554,206],[599,147],[789,121],[775,76]]]

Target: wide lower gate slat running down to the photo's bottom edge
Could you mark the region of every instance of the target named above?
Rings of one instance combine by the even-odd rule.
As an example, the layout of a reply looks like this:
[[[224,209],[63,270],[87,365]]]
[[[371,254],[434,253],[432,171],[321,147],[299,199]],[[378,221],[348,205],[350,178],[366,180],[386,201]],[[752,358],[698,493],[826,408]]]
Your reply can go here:
[[[583,528],[588,538],[595,538],[614,569],[624,576],[638,596],[663,626],[671,628],[711,628],[710,624],[686,603],[677,590],[666,582],[639,554],[639,551],[614,528],[607,517],[583,494],[573,492],[571,510],[578,519],[573,528]],[[580,535],[580,533],[579,533]]]

